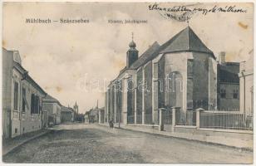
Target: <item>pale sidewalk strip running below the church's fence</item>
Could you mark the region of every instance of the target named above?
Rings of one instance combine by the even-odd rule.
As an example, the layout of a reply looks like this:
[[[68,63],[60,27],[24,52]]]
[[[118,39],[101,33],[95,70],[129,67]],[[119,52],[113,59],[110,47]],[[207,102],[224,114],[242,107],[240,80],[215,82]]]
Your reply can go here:
[[[108,124],[99,124],[101,126],[107,126]],[[115,124],[115,128],[118,126]],[[129,129],[133,131],[144,132],[148,134],[159,134],[163,136],[169,136],[179,139],[187,139],[193,141],[200,141],[209,144],[218,144],[229,146],[232,148],[237,149],[245,149],[245,150],[253,150],[254,148],[254,139],[253,134],[251,135],[252,139],[238,139],[238,138],[227,138],[225,136],[214,136],[208,134],[194,134],[194,133],[179,133],[179,132],[167,132],[167,131],[160,131],[158,129],[150,129],[150,127],[145,126],[135,126],[135,125],[121,125],[121,129]]]

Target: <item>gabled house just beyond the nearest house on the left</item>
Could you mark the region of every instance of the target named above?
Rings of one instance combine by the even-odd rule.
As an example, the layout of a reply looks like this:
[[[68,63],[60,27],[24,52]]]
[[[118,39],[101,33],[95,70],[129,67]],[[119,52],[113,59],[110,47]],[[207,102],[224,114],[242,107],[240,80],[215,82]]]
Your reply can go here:
[[[62,105],[57,99],[47,95],[42,100],[42,109],[48,112],[48,124],[59,125],[61,123]]]

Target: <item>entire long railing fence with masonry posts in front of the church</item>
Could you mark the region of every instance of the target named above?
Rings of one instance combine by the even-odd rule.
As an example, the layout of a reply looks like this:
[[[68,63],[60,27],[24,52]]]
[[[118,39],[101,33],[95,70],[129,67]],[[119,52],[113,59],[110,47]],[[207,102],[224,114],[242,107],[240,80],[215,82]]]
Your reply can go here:
[[[160,112],[161,111],[161,112]],[[253,130],[254,118],[253,114],[245,115],[239,111],[226,111],[226,110],[180,110],[179,107],[174,109],[160,109],[155,114],[155,120],[160,118],[161,125],[186,125],[196,126],[199,128],[208,129],[243,129]],[[175,115],[174,115],[175,114]],[[175,117],[173,117],[175,116]],[[128,124],[142,124],[142,115],[128,115]],[[173,121],[174,120],[174,121]],[[152,114],[144,114],[145,125],[153,124]],[[160,120],[159,120],[160,121]]]

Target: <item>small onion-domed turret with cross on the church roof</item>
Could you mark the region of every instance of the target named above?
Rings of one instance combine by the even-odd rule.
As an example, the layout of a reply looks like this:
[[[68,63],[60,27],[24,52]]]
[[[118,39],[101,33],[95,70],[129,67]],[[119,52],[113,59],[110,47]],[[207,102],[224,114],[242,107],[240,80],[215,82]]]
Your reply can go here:
[[[130,66],[138,60],[139,51],[136,50],[136,44],[135,41],[133,41],[133,33],[129,47],[129,50],[126,52],[126,68],[130,68]]]

